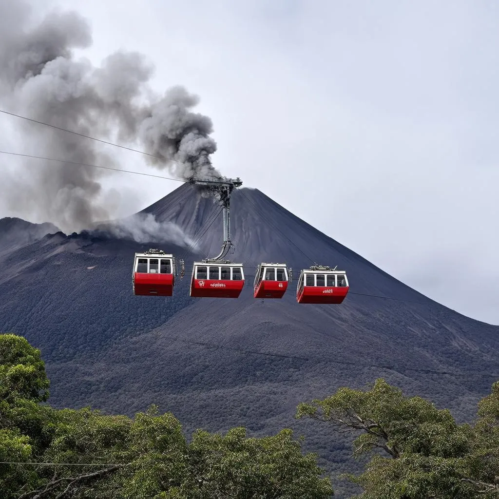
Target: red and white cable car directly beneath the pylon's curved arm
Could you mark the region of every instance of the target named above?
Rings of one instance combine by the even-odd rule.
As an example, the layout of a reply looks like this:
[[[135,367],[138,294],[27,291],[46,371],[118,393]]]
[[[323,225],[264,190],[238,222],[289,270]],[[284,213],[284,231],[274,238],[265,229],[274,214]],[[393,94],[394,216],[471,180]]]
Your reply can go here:
[[[238,298],[245,285],[242,263],[195,261],[191,296],[198,298]]]

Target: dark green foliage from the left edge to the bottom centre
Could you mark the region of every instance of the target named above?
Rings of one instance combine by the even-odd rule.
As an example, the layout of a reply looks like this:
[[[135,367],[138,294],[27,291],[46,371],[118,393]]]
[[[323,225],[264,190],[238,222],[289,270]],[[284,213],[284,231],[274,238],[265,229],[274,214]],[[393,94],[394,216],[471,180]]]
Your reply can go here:
[[[43,404],[48,380],[39,351],[0,335],[2,499],[326,499],[316,457],[292,432],[247,438],[198,431],[156,407],[134,418]]]

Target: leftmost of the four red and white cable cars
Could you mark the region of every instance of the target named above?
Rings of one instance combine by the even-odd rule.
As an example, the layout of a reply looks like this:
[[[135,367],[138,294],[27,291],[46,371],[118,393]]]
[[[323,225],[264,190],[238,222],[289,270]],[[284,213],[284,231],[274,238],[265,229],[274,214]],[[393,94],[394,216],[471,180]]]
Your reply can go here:
[[[133,293],[141,296],[172,296],[176,275],[173,254],[155,249],[135,253]]]

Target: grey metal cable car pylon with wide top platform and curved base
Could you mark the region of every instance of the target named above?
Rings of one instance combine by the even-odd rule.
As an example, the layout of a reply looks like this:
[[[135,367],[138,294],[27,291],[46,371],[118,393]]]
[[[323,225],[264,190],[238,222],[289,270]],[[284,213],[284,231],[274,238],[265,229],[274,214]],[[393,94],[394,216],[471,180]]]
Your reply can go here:
[[[224,243],[220,253],[213,258],[206,258],[203,260],[208,263],[210,261],[222,260],[231,248],[235,250],[235,246],[231,241],[231,194],[234,188],[241,187],[243,181],[238,177],[236,179],[229,179],[227,177],[190,177],[187,181],[189,184],[207,187],[216,198],[219,199],[224,211]],[[234,251],[233,251],[234,252]]]

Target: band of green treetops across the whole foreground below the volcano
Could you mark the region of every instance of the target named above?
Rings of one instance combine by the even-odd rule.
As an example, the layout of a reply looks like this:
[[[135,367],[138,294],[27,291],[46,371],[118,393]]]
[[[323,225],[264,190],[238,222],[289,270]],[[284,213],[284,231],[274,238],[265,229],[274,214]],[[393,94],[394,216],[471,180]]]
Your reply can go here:
[[[362,499],[499,499],[499,382],[466,424],[383,379],[299,404],[296,418],[354,435],[352,453],[366,466],[343,477],[327,476],[289,429],[260,438],[197,430],[188,439],[154,406],[133,418],[55,409],[48,389],[41,352],[0,335],[3,499],[322,499],[338,478]]]

